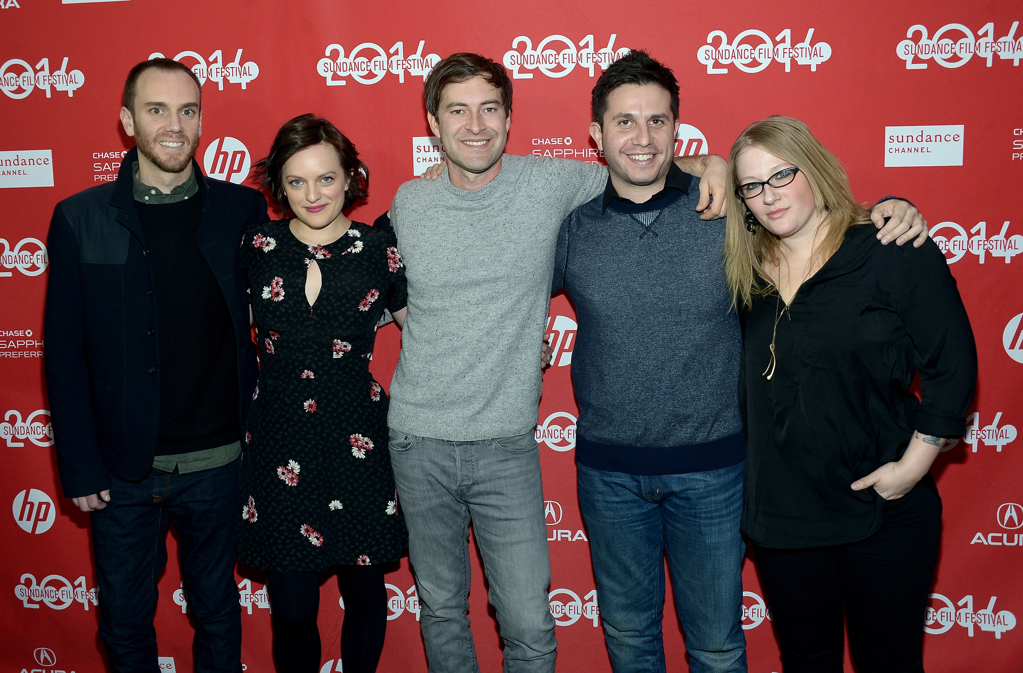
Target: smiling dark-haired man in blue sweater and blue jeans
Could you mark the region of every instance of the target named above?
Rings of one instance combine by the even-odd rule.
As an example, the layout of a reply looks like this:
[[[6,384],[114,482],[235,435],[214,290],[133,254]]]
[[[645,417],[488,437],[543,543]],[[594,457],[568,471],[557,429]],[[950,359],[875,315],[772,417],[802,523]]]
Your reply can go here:
[[[601,77],[592,107],[610,176],[563,224],[551,292],[566,290],[578,316],[579,504],[611,662],[616,673],[665,670],[667,551],[690,670],[745,672],[742,335],[724,227],[700,220],[692,177],[672,162],[670,69],[633,51]],[[916,214],[886,202],[875,221],[893,212]],[[919,218],[899,244],[918,234]]]

